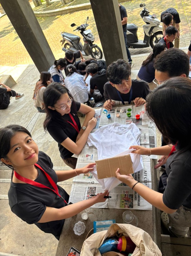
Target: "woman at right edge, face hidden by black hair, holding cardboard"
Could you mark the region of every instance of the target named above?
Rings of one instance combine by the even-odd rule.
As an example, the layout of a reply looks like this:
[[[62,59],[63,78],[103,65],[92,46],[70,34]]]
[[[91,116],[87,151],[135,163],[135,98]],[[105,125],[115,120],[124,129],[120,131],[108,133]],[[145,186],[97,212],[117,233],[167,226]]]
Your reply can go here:
[[[169,155],[164,193],[137,182],[132,175],[117,178],[163,211],[162,222],[172,236],[186,236],[191,227],[191,80],[174,77],[166,80],[147,96],[146,111],[168,145],[158,148],[131,146],[135,154]]]

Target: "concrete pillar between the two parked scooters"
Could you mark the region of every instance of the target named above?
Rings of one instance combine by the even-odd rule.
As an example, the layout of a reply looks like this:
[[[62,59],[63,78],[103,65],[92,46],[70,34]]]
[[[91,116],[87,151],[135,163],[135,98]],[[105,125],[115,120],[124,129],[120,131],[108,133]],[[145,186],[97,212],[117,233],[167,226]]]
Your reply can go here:
[[[118,1],[90,0],[107,65],[128,61]]]

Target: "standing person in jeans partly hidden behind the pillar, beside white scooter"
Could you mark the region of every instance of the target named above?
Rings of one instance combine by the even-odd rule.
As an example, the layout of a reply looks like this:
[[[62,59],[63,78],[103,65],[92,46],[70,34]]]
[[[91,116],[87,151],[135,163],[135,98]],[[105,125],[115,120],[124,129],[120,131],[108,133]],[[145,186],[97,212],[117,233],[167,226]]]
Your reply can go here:
[[[131,67],[134,65],[134,62],[131,59],[131,55],[130,55],[130,51],[128,49],[128,45],[127,45],[127,11],[125,9],[125,7],[121,4],[119,4],[119,10],[120,10],[120,15],[121,15],[121,23],[122,23],[122,27],[123,27],[123,35],[124,35],[124,39],[125,39],[125,47],[126,47],[126,51],[127,51],[127,57],[128,57],[128,61],[131,65]]]

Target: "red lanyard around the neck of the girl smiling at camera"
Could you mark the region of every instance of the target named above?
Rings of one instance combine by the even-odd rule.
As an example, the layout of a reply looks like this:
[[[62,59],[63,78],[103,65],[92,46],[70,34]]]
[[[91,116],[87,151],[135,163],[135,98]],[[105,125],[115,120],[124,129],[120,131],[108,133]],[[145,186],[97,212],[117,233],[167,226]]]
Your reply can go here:
[[[50,184],[53,186],[54,189],[51,189],[50,187],[47,187],[47,186],[45,186],[45,185],[43,185],[43,184],[41,184],[41,183],[39,183],[39,182],[36,182],[36,181],[33,181],[33,180],[29,180],[29,179],[27,179],[27,178],[25,178],[25,177],[19,175],[19,174],[18,174],[17,172],[15,172],[15,170],[14,170],[14,175],[15,175],[15,177],[16,177],[18,180],[21,180],[21,181],[23,181],[23,182],[25,182],[25,183],[28,183],[28,184],[31,184],[31,185],[33,185],[33,186],[42,187],[42,188],[48,188],[48,189],[52,190],[54,193],[56,193],[59,197],[61,197],[61,198],[64,200],[64,198],[58,193],[58,187],[57,187],[56,183],[53,181],[53,179],[50,177],[50,175],[48,175],[48,173],[46,173],[46,172],[40,167],[40,165],[38,165],[38,164],[34,164],[34,165],[35,165],[36,167],[40,168],[40,169],[44,172],[44,174],[46,175],[48,181],[50,182]],[[68,203],[66,202],[66,200],[64,200],[64,202],[66,203],[66,205],[68,205]]]

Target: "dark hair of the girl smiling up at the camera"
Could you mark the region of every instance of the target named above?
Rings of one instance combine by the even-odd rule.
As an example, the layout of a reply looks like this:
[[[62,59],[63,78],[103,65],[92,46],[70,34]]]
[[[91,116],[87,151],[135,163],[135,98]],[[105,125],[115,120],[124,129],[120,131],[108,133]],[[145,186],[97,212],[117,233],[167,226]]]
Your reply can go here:
[[[31,137],[31,133],[21,125],[11,124],[3,128],[0,128],[0,159],[7,158],[7,154],[10,151],[11,138],[15,136],[17,132],[27,133]],[[14,170],[12,165],[9,165],[9,164],[5,164],[5,165],[10,169]],[[12,175],[13,175],[13,172],[12,172]]]

